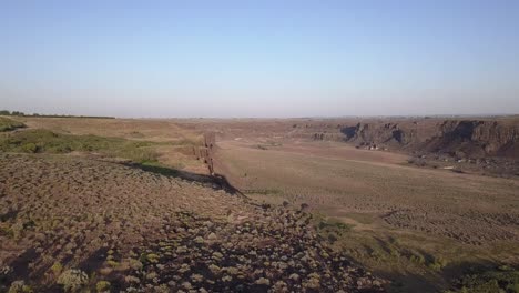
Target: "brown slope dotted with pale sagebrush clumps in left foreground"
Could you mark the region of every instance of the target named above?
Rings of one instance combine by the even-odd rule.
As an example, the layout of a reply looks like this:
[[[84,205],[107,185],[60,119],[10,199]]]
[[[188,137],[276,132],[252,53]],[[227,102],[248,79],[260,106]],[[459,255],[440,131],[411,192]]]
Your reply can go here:
[[[0,291],[380,292],[299,209],[84,155],[0,154]]]

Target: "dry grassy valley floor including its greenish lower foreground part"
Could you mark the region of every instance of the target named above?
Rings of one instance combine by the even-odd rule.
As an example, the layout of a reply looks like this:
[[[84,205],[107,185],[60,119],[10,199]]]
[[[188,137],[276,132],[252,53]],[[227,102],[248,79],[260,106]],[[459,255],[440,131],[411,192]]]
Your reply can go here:
[[[396,291],[439,290],[448,285],[446,266],[513,261],[519,253],[517,180],[405,166],[404,155],[344,144],[218,145],[217,171],[253,191],[248,196],[308,203],[325,219],[353,225],[343,235],[324,231],[323,236],[383,275],[400,281],[407,275]]]

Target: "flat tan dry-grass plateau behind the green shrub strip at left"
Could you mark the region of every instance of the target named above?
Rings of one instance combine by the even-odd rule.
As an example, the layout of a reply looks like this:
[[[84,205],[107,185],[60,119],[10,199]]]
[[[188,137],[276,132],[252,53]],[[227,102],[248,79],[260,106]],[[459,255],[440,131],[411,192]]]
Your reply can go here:
[[[24,122],[29,130],[48,130],[61,137],[100,138],[111,142],[124,140],[123,144],[133,144],[138,148],[126,148],[123,158],[143,156],[141,161],[145,161],[144,156],[153,153],[150,161],[156,160],[164,165],[194,173],[206,174],[208,172],[203,162],[193,160],[193,156],[189,154],[193,145],[202,144],[202,131],[187,130],[172,120],[34,117],[14,119]],[[139,143],[146,145],[139,146]],[[116,153],[124,149],[119,144],[121,143],[114,148]]]

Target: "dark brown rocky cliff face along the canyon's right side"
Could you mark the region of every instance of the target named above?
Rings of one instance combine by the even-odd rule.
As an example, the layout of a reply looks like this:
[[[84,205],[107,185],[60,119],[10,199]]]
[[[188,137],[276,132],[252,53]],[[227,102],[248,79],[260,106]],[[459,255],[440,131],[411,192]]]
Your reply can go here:
[[[487,120],[429,123],[358,123],[343,128],[345,140],[358,144],[449,153],[456,156],[519,159],[519,124]]]

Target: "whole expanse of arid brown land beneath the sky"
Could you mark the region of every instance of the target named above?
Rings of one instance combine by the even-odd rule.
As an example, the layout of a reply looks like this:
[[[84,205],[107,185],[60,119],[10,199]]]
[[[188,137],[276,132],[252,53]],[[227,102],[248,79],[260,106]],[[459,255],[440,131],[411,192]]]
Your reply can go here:
[[[10,119],[24,128],[1,134],[6,282],[52,292],[81,269],[108,291],[437,292],[519,263],[519,180],[490,172],[515,159],[472,163],[462,141],[417,165],[439,153],[403,143],[420,119],[368,143],[354,119]]]

